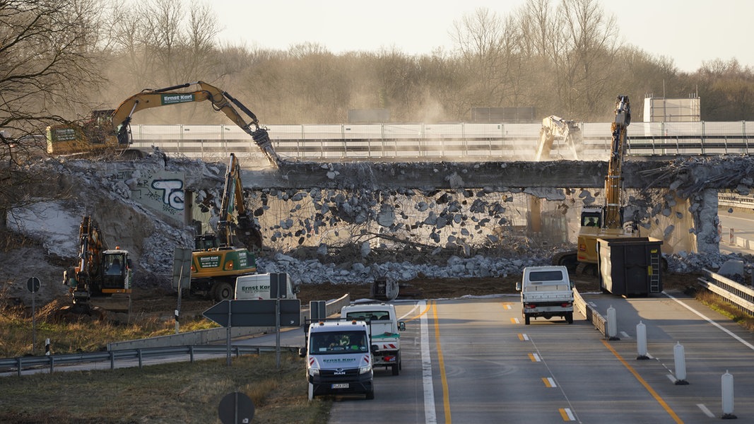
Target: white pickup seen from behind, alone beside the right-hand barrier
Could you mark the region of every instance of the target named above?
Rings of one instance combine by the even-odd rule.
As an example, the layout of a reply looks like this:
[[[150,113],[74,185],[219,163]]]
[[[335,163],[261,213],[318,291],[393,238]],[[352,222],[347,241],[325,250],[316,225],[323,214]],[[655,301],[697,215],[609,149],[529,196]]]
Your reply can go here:
[[[516,290],[526,325],[532,318],[554,316],[573,324],[573,286],[565,266],[527,266]]]

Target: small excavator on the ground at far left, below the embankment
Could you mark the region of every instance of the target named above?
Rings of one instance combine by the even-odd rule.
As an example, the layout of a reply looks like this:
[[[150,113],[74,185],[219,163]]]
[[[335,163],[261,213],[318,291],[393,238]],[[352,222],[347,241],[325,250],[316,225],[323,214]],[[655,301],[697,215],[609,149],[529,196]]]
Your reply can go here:
[[[106,311],[127,312],[133,280],[128,250],[109,249],[90,216],[81,220],[78,241],[78,263],[63,271],[63,284],[68,287],[72,305],[58,310],[58,318],[71,321],[88,315],[102,319]]]

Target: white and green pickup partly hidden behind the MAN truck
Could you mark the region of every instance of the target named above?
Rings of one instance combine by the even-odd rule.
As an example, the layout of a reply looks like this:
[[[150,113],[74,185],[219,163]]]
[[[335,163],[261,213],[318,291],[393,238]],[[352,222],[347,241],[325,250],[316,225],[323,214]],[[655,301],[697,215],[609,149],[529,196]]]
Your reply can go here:
[[[375,367],[391,368],[393,375],[400,373],[400,333],[406,324],[398,321],[395,306],[389,303],[357,303],[343,306],[341,318],[366,321],[372,340]]]

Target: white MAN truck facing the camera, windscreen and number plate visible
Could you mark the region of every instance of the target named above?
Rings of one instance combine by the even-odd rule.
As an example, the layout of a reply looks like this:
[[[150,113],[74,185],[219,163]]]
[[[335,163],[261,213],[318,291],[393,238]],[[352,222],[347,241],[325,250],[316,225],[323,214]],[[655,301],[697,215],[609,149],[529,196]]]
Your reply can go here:
[[[306,358],[309,400],[317,395],[363,394],[374,399],[372,346],[364,321],[321,320],[308,325]]]

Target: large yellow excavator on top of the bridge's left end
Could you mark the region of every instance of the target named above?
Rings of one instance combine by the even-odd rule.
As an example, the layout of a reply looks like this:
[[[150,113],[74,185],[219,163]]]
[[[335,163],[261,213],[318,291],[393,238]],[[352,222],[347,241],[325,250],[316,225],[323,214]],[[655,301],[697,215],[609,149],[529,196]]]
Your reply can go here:
[[[198,88],[193,91],[181,90],[192,86]],[[259,127],[256,115],[227,92],[204,81],[187,82],[157,90],[148,88],[128,97],[116,109],[93,111],[83,122],[52,125],[47,128],[47,152],[51,155],[112,153],[138,158],[143,153],[129,149],[130,121],[134,113],[153,107],[204,100],[209,100],[216,111],[228,115],[231,121],[249,134],[273,166],[280,164],[280,157],[272,148],[269,134],[265,128]],[[247,122],[233,105],[241,109],[250,121]]]

